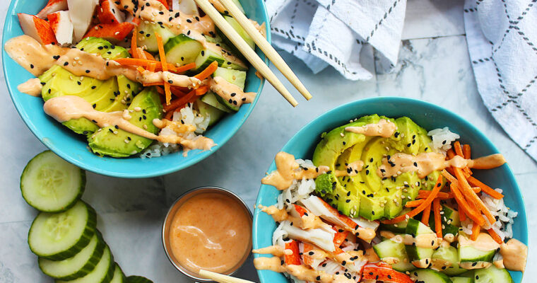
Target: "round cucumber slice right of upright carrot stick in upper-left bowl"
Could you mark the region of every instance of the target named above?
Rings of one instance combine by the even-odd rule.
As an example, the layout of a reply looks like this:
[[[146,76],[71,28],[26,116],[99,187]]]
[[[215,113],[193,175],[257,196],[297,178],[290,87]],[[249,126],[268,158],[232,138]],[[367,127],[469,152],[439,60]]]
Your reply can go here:
[[[183,34],[170,38],[164,45],[166,61],[182,65],[194,62],[202,49],[203,46],[199,41],[193,40]]]

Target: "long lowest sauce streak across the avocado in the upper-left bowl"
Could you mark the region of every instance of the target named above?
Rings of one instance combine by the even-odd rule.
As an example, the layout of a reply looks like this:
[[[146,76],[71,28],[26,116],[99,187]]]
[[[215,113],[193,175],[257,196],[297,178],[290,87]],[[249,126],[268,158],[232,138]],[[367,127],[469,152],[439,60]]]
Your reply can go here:
[[[58,122],[66,122],[71,119],[85,117],[88,120],[94,121],[99,127],[117,125],[119,129],[123,129],[131,134],[137,134],[138,136],[154,139],[160,142],[181,144],[186,149],[209,150],[212,146],[214,146],[213,140],[206,137],[199,137],[196,140],[190,140],[175,135],[158,136],[131,124],[131,122],[126,119],[129,118],[129,116],[124,115],[124,111],[100,112],[93,109],[93,106],[88,103],[88,101],[78,96],[59,96],[50,98],[45,102],[45,105],[43,105],[43,110],[45,110],[47,115],[53,117]],[[153,124],[159,128],[167,126],[170,122],[171,121],[165,122],[161,120],[153,120]],[[194,126],[182,125],[182,127],[184,128],[182,129],[183,131],[187,131]]]

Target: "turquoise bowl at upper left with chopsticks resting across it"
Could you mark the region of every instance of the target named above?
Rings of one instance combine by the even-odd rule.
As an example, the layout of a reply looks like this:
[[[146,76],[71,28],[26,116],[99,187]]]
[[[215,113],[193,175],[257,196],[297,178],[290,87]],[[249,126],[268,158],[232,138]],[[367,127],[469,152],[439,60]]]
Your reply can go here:
[[[23,31],[18,24],[17,13],[35,14],[45,6],[47,0],[13,0],[8,8],[6,22],[4,23],[4,34],[2,46],[12,37],[22,35]],[[242,6],[249,18],[258,23],[266,23],[267,40],[270,42],[271,33],[266,14],[265,2],[263,0],[241,0]],[[257,54],[268,64],[264,54],[256,50]],[[78,134],[74,134],[69,129],[47,116],[43,112],[42,98],[28,96],[20,93],[17,86],[20,83],[33,78],[33,75],[20,67],[13,61],[8,54],[2,52],[4,61],[4,76],[8,85],[11,100],[17,109],[20,117],[24,120],[28,128],[35,134],[45,146],[54,151],[54,153],[64,158],[66,161],[81,167],[88,171],[93,171],[102,175],[110,175],[120,178],[146,178],[158,175],[164,175],[187,168],[204,158],[207,158],[213,152],[220,149],[235,132],[242,126],[244,121],[250,115],[263,88],[264,81],[255,75],[254,68],[250,68],[247,74],[246,91],[257,93],[254,103],[244,105],[239,112],[227,115],[220,120],[214,127],[208,129],[206,137],[215,141],[211,151],[193,150],[189,151],[188,156],[182,156],[182,152],[160,156],[158,158],[111,158],[100,157],[92,154],[88,149],[86,140]]]

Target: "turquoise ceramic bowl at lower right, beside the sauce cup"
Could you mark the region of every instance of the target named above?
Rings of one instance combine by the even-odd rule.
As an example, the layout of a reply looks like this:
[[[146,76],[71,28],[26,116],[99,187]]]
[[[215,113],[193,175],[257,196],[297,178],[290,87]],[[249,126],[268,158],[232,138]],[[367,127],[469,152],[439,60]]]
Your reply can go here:
[[[341,105],[334,110],[309,122],[295,136],[283,146],[282,151],[293,154],[295,158],[311,159],[315,146],[320,140],[322,132],[328,132],[335,127],[345,125],[349,120],[370,114],[385,115],[387,117],[408,116],[418,125],[427,130],[440,127],[449,127],[452,132],[461,136],[461,142],[472,146],[473,156],[485,156],[498,153],[495,146],[476,127],[463,120],[454,113],[440,108],[437,105],[425,103],[420,100],[409,98],[368,98],[358,100],[346,105]],[[276,152],[274,153],[276,155]],[[274,162],[268,168],[268,172],[276,170]],[[515,212],[519,212],[514,219],[513,233],[522,243],[528,244],[528,224],[526,210],[514,175],[509,166],[504,165],[487,171],[476,171],[476,176],[483,183],[500,187],[504,190],[505,203]],[[261,178],[261,177],[260,177]],[[261,185],[256,204],[265,206],[276,204],[276,198],[280,191],[269,185]],[[272,245],[272,233],[276,229],[276,223],[268,214],[256,209],[254,212],[253,243],[255,248],[263,248]],[[255,257],[264,255],[255,255]],[[261,283],[285,283],[287,280],[280,273],[259,270]],[[522,272],[511,272],[514,282],[521,282]]]

